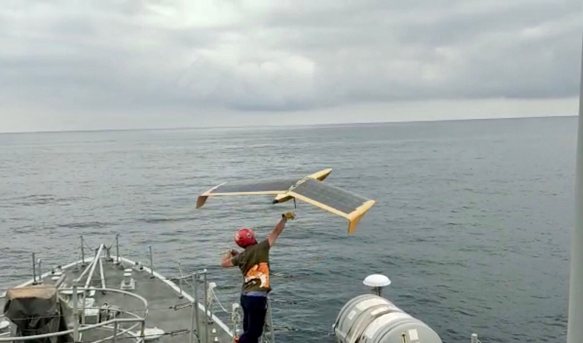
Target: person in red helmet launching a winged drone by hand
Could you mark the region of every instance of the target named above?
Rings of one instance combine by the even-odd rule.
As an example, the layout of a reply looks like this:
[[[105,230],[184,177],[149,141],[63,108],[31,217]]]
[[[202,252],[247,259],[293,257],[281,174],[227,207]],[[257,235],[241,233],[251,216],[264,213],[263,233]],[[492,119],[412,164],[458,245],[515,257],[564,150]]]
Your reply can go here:
[[[263,333],[269,285],[269,249],[282,233],[288,219],[294,219],[293,212],[282,215],[278,225],[273,227],[267,239],[257,243],[252,229],[238,230],[233,239],[244,250],[238,253],[229,250],[221,260],[224,268],[239,267],[243,272],[241,307],[243,307],[243,334],[239,343],[257,343]]]

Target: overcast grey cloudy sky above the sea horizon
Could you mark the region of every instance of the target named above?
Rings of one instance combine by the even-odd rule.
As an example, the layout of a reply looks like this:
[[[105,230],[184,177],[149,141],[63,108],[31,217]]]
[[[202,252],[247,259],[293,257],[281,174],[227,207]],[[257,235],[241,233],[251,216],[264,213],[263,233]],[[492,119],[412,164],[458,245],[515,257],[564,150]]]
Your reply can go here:
[[[0,132],[574,115],[580,0],[3,0]]]

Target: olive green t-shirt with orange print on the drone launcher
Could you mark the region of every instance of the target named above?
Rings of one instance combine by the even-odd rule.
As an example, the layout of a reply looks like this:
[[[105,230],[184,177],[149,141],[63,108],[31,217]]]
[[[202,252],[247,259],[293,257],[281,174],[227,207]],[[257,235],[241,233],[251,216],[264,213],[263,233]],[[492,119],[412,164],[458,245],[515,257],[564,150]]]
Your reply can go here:
[[[269,292],[269,241],[263,240],[231,258],[243,272],[243,293]]]

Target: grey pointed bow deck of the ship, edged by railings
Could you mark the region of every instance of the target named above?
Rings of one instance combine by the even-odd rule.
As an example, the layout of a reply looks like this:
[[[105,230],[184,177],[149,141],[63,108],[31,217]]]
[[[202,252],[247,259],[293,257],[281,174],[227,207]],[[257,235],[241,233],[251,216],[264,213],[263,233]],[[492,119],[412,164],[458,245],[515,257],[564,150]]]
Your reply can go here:
[[[99,321],[99,308],[106,304],[119,307],[122,313],[118,318],[131,318],[132,314],[138,317],[145,317],[145,338],[154,338],[154,333],[150,333],[151,328],[157,328],[164,331],[164,334],[157,338],[157,342],[175,343],[175,342],[232,342],[233,337],[229,328],[222,323],[217,317],[207,317],[208,327],[205,327],[204,314],[204,297],[198,297],[198,306],[196,306],[196,313],[192,310],[194,303],[194,296],[192,292],[192,278],[185,278],[182,280],[182,292],[179,286],[171,279],[164,278],[164,276],[150,271],[147,267],[135,267],[135,262],[127,258],[120,258],[119,263],[115,263],[115,257],[106,258],[101,256],[101,262],[96,263],[92,278],[87,286],[92,290],[86,291],[88,299],[94,299],[94,304],[89,305],[87,302],[93,300],[86,300],[88,304],[83,311],[83,302],[78,302],[79,313],[85,313],[83,324],[91,325]],[[99,261],[99,260],[98,260]],[[85,267],[80,266],[80,261],[66,265],[62,268],[62,274],[65,274],[65,281],[59,288],[61,296],[68,297],[68,303],[72,307],[72,290],[71,287],[75,283],[75,279],[82,275],[87,265],[91,265],[92,259],[85,261]],[[103,278],[101,277],[101,269],[103,268]],[[128,268],[132,270],[129,271]],[[124,272],[131,272],[131,276],[124,276]],[[86,285],[86,278],[91,273],[86,272],[77,282],[79,287]],[[134,289],[126,289],[135,295],[139,295],[147,300],[146,307],[138,297],[134,297],[125,293],[114,292],[115,289],[121,289],[122,281],[125,279],[134,279]],[[45,273],[42,276],[42,282],[45,285],[54,285],[57,282],[57,276],[54,271]],[[19,287],[31,285],[32,280],[23,283]],[[38,283],[38,282],[37,282]],[[202,293],[203,283],[199,281],[198,292]],[[105,290],[109,289],[109,290]],[[202,302],[202,303],[201,303]],[[0,299],[0,308],[3,308],[5,298]],[[198,314],[198,325],[196,325],[196,314]],[[81,316],[82,317],[82,316]],[[0,317],[0,321],[3,318]],[[103,320],[101,320],[103,321]],[[117,332],[122,332],[125,329],[132,330],[118,335],[116,341],[120,342],[136,342],[139,340],[141,334],[141,322],[134,323],[118,323]],[[197,326],[199,330],[197,331]],[[194,332],[192,338],[189,337],[190,332]],[[208,332],[208,334],[207,334]],[[0,341],[6,336],[1,335]],[[98,342],[106,339],[106,342],[112,342],[110,337],[113,334],[113,325],[106,325],[104,327],[94,328],[92,330],[80,332],[79,341],[81,342]],[[149,336],[152,335],[152,336]],[[208,337],[207,337],[208,335]],[[199,338],[199,340],[198,340]]]

